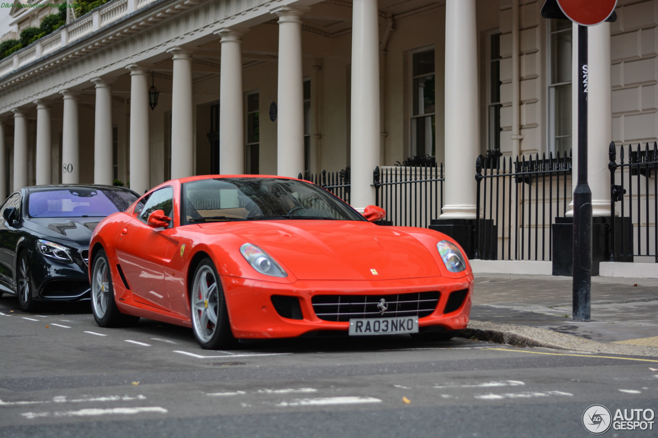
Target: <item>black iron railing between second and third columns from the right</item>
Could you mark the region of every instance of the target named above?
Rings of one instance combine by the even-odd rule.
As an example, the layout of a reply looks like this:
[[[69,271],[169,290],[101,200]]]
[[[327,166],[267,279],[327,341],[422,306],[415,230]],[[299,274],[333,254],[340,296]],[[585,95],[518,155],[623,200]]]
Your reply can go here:
[[[443,164],[375,168],[375,203],[386,210],[382,223],[426,228],[441,214],[443,181]]]

